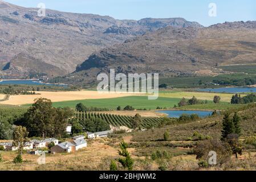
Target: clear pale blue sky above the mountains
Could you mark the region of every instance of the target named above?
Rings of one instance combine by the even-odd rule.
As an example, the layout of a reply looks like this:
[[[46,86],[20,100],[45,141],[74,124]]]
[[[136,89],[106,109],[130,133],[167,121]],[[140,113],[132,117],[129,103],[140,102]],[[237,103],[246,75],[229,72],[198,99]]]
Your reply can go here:
[[[109,15],[116,19],[174,18],[204,26],[238,20],[256,20],[256,0],[4,0],[24,7],[42,2],[47,9],[73,13]],[[217,16],[210,17],[209,3],[216,3]]]

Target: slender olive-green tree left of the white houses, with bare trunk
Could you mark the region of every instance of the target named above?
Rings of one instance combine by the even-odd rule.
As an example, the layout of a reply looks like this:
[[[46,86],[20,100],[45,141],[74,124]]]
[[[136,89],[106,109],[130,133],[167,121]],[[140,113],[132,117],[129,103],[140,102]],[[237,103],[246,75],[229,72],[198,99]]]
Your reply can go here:
[[[26,127],[23,126],[15,126],[13,130],[13,146],[18,147],[19,154],[22,154],[23,147],[26,142],[29,142],[29,138],[27,136],[29,132],[27,132]]]

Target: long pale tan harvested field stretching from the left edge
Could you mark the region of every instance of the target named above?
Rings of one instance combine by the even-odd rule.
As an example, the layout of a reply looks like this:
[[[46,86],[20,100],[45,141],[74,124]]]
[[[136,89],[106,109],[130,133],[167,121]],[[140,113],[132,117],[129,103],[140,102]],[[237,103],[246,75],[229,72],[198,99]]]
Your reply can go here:
[[[25,105],[32,104],[36,98],[48,98],[52,102],[62,102],[62,101],[75,101],[75,100],[86,100],[86,99],[101,99],[101,98],[117,98],[132,96],[132,94],[127,93],[98,93],[96,91],[72,91],[72,92],[36,92],[36,95],[17,95],[10,96],[9,100],[0,102],[0,104],[5,105]],[[133,94],[134,96],[134,94]],[[1,95],[0,95],[1,98]]]

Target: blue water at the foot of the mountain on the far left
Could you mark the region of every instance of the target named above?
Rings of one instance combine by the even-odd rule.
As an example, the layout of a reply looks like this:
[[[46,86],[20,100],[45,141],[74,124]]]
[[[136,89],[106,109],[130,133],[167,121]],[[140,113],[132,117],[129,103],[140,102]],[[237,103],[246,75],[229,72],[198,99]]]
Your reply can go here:
[[[47,85],[47,86],[63,86],[67,87],[66,84],[48,84],[39,80],[2,80],[0,85]]]

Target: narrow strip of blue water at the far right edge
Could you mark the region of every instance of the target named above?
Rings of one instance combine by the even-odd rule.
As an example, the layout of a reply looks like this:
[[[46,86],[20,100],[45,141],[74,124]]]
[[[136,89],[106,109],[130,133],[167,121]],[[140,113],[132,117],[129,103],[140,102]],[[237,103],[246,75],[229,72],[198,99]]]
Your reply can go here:
[[[216,93],[242,93],[242,92],[256,92],[256,87],[225,87],[212,89],[198,89],[201,92],[216,92]]]

